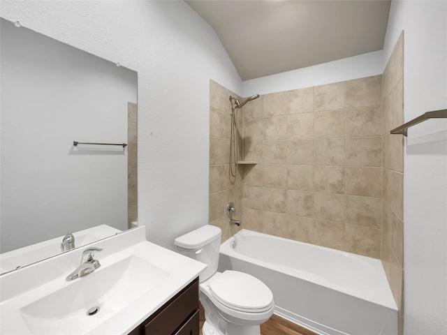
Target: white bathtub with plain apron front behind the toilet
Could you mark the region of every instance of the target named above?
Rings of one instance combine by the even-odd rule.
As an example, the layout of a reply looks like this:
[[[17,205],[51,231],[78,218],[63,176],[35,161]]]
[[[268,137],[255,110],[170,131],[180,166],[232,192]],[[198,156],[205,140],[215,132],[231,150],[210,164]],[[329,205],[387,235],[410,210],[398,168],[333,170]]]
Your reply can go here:
[[[261,279],[274,313],[323,335],[397,335],[380,260],[242,229],[221,244],[219,271]]]

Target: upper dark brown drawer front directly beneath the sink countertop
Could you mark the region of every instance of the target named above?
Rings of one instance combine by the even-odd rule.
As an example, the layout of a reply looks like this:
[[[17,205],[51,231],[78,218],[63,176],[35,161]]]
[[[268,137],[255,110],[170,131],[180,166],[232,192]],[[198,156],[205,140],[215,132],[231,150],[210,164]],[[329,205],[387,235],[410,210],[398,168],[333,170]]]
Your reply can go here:
[[[170,335],[198,310],[198,280],[145,325],[145,335]],[[188,333],[179,333],[188,334]],[[194,334],[194,333],[192,333]]]

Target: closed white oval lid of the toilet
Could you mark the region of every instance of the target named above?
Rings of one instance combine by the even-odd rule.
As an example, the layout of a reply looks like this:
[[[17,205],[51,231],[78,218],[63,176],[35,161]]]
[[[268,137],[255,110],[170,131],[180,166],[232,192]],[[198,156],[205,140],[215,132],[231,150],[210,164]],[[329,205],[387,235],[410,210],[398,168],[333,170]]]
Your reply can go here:
[[[262,281],[239,271],[223,271],[210,283],[210,291],[221,304],[238,311],[263,311],[272,306],[272,291]]]

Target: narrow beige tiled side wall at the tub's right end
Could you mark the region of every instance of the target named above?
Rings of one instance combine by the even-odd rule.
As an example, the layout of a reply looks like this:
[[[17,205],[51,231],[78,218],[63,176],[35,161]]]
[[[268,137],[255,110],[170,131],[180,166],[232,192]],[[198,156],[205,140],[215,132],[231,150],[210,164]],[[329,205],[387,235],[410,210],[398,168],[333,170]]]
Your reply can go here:
[[[381,260],[400,311],[404,267],[404,139],[390,130],[404,123],[404,33],[383,73],[383,234]]]

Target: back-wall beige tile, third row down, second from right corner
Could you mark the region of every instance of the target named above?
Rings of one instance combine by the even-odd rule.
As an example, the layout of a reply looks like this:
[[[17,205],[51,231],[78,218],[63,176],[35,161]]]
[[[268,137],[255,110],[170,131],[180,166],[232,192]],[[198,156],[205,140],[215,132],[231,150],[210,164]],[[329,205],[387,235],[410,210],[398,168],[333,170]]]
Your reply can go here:
[[[315,164],[344,165],[345,140],[344,138],[316,138]]]

